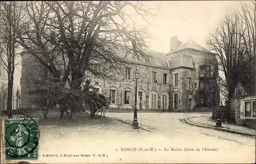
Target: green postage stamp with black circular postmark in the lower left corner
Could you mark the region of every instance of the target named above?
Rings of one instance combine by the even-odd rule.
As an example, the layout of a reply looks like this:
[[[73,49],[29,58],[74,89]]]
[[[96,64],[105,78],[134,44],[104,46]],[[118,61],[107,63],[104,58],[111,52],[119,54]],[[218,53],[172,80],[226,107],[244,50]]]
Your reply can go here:
[[[35,120],[27,115],[24,118],[5,120],[5,153],[9,159],[30,158],[36,151],[39,130]]]

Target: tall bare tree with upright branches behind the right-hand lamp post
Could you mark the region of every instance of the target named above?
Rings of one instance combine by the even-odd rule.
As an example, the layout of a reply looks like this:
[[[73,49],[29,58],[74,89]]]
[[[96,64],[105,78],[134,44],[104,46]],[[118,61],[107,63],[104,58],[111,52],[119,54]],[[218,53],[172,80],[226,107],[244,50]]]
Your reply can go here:
[[[210,50],[215,51],[218,56],[219,70],[224,72],[227,89],[227,106],[229,109],[230,99],[233,97],[240,77],[245,69],[246,45],[244,41],[246,30],[242,25],[238,12],[226,13],[217,28],[212,32],[206,43]],[[228,110],[228,120],[231,121]]]

